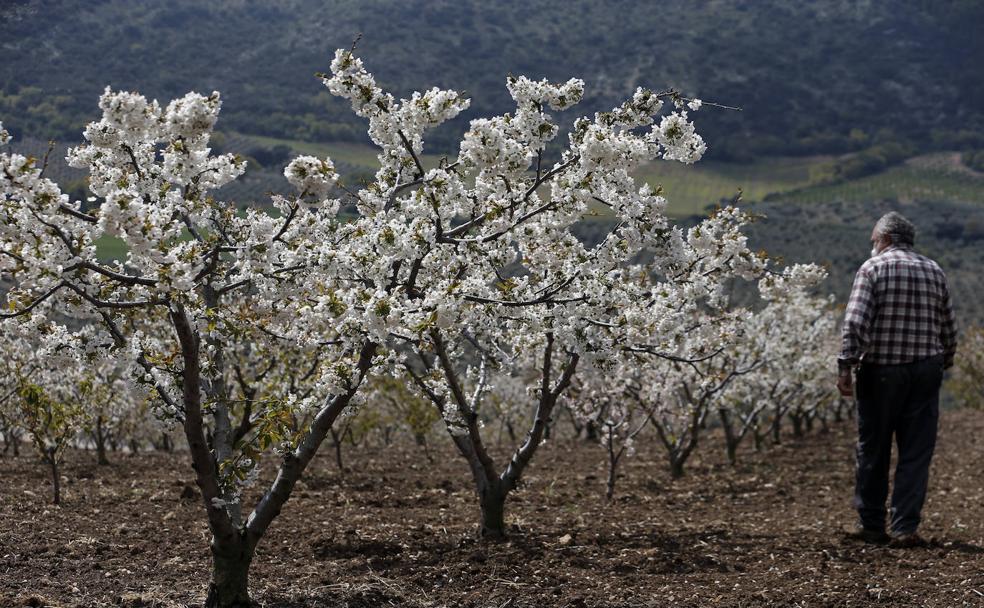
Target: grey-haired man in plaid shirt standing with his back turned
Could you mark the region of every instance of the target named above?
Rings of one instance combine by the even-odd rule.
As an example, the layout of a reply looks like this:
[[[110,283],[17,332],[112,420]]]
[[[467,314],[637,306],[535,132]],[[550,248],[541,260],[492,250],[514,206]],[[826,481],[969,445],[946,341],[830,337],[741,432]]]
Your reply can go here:
[[[946,276],[912,250],[915,235],[899,213],[875,224],[871,258],[851,289],[837,360],[837,387],[845,397],[853,393],[857,368],[858,524],[851,536],[899,547],[923,542],[916,529],[936,446],[940,384],[957,348]],[[898,464],[889,536],[885,501],[893,434]]]

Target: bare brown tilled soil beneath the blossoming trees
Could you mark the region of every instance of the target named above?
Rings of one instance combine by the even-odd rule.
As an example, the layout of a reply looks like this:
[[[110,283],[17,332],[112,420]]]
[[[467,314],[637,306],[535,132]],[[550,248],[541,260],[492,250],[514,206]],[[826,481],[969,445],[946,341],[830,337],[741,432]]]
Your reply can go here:
[[[945,412],[928,547],[847,540],[853,426],[723,463],[709,436],[672,481],[650,449],[606,503],[604,454],[557,440],[512,498],[511,540],[474,540],[467,468],[410,447],[330,450],[261,543],[261,606],[984,606],[984,413]],[[195,606],[208,536],[185,454],[69,455],[65,504],[46,470],[0,459],[0,606]]]

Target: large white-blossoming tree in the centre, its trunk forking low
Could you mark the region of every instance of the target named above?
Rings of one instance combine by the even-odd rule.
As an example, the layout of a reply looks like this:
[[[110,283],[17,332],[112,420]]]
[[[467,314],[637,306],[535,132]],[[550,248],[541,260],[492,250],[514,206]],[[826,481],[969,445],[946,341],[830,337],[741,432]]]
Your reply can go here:
[[[501,537],[506,497],[581,359],[609,356],[620,342],[672,342],[721,283],[755,275],[761,260],[741,235],[745,218],[726,209],[685,233],[670,225],[661,194],[631,177],[643,162],[693,162],[704,151],[688,103],[673,92],[639,89],[614,110],[575,121],[567,149],[550,160],[559,128],[547,110],[578,102],[583,84],[510,78],[516,111],[473,120],[457,160],[428,170],[423,131],[463,109],[457,93],[396,101],[347,51],[324,79],[369,120],[382,152],[375,181],[351,193],[358,215],[350,237],[319,261],[357,269],[351,280],[365,293],[342,305],[376,314],[387,358],[440,409],[469,465],[482,535]],[[675,110],[663,116],[665,99]],[[575,226],[599,207],[615,223],[587,245]],[[652,260],[629,264],[643,249]],[[493,376],[516,378],[517,369],[533,372],[522,375],[532,422],[498,466],[480,408]]]

